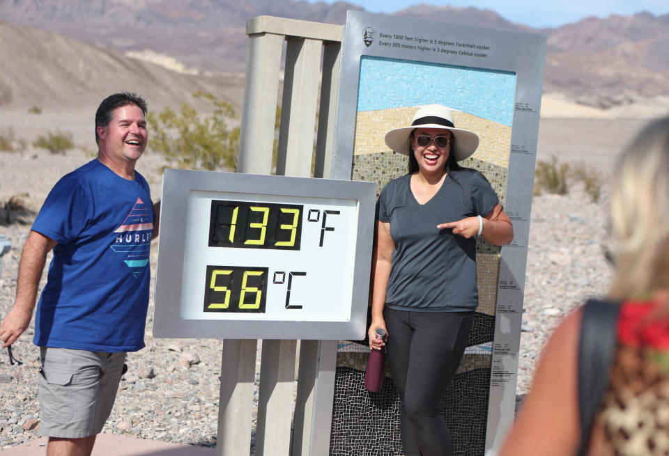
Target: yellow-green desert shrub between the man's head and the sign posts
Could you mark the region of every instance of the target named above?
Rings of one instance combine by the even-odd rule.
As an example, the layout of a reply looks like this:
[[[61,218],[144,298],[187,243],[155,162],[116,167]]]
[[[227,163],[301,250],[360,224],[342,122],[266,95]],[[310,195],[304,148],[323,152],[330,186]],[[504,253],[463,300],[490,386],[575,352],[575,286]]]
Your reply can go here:
[[[187,103],[178,112],[167,107],[160,113],[149,113],[146,121],[151,150],[163,155],[168,166],[236,171],[239,127],[229,127],[237,118],[235,110],[210,93],[193,96],[213,104],[213,113],[203,116]]]

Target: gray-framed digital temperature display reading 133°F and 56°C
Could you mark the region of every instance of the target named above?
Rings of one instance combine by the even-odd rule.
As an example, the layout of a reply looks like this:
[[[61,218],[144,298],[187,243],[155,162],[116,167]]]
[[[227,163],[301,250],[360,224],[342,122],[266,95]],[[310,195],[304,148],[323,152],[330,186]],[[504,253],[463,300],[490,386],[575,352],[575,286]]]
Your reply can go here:
[[[364,337],[375,195],[370,182],[166,170],[155,334]]]

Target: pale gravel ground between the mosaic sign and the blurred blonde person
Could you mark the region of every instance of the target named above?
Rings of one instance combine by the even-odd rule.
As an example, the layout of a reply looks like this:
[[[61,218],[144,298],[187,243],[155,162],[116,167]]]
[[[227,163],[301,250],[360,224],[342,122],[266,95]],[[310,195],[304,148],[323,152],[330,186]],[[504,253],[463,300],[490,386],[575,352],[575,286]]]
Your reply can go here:
[[[592,203],[582,189],[535,196],[525,274],[523,330],[516,394],[530,388],[546,338],[562,317],[610,288],[613,268],[603,255],[608,191]]]

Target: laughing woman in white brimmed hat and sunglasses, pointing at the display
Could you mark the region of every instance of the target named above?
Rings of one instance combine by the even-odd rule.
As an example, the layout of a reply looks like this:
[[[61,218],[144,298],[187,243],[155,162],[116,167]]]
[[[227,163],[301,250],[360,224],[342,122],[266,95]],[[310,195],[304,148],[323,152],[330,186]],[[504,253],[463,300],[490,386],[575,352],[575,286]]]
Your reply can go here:
[[[458,165],[479,138],[456,128],[447,107],[419,109],[385,143],[409,156],[409,173],[389,182],[377,203],[369,347],[387,347],[404,454],[451,455],[439,405],[478,303],[476,237],[502,245],[514,231],[486,178]],[[387,343],[374,335],[378,328]]]

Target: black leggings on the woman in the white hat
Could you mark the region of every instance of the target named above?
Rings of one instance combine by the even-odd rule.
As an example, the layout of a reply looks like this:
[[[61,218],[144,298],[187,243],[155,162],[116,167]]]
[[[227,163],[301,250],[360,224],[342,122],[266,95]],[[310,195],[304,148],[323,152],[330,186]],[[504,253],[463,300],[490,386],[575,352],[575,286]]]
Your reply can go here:
[[[452,455],[439,406],[462,360],[474,313],[385,308],[383,316],[387,359],[401,404],[404,454]]]

